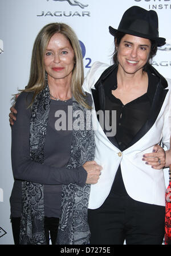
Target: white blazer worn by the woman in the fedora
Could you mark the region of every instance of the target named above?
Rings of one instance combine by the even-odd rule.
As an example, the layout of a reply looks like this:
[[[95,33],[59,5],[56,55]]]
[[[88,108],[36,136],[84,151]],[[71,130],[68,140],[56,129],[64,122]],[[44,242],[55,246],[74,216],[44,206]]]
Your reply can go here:
[[[96,89],[95,84],[97,85],[101,74],[108,67],[109,65],[104,63],[93,63],[84,81],[84,91],[92,95],[92,89]],[[109,67],[109,69],[111,68],[112,66]],[[153,67],[151,68],[156,71]],[[157,75],[160,74],[158,73]],[[163,86],[162,81],[165,81],[165,86]],[[152,169],[151,166],[142,161],[142,158],[144,153],[151,153],[153,146],[160,143],[160,141],[169,149],[171,127],[170,86],[170,79],[160,78],[160,83],[157,85],[154,96],[156,101],[154,106],[156,104],[155,109],[158,108],[156,117],[152,112],[149,120],[152,124],[146,124],[142,136],[123,152],[120,152],[105,135],[100,123],[97,121],[95,113],[96,102],[93,101],[92,121],[96,142],[95,161],[103,166],[103,170],[99,181],[95,185],[91,185],[89,209],[100,207],[108,197],[119,165],[121,165],[125,189],[131,198],[140,202],[165,206],[166,186],[164,172],[162,169]],[[162,100],[162,98],[164,99]],[[161,106],[159,106],[160,102]],[[156,110],[154,113],[156,113]],[[152,120],[153,118],[154,120]]]

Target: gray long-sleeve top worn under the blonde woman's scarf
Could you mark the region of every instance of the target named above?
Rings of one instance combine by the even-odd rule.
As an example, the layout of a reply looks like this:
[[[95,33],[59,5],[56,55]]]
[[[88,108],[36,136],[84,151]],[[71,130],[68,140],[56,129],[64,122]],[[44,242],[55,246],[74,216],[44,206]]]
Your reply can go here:
[[[30,158],[29,134],[31,108],[31,93],[22,93],[17,99],[17,121],[12,127],[11,161],[14,175],[14,186],[10,197],[11,217],[21,217],[22,181],[44,184],[44,213],[47,217],[60,216],[60,198],[62,184],[77,183],[83,186],[87,179],[87,171],[83,167],[67,169],[70,157],[72,131],[56,130],[55,113],[63,110],[68,120],[67,102],[51,100],[48,118],[46,142],[44,145],[44,163],[36,163]]]

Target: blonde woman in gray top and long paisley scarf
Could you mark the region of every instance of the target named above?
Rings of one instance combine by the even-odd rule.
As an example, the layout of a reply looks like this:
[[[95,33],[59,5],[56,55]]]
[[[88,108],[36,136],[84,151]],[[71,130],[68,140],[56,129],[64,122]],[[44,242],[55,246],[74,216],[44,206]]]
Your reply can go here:
[[[10,197],[15,244],[48,244],[49,233],[52,244],[89,241],[89,190],[101,166],[93,161],[91,123],[89,129],[86,122],[72,129],[91,109],[83,78],[74,31],[64,23],[44,26],[32,50],[28,85],[15,104]]]

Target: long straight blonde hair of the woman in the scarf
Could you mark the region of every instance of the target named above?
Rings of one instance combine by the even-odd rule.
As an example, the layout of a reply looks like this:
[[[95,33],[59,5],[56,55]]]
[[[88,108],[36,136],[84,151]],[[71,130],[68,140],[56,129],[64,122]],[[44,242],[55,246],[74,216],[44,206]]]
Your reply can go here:
[[[21,91],[34,91],[32,102],[36,95],[46,86],[46,71],[44,69],[44,55],[52,35],[55,33],[63,34],[75,53],[75,66],[72,71],[71,91],[72,95],[80,105],[91,109],[86,100],[86,95],[83,93],[82,85],[84,81],[84,68],[82,50],[78,38],[70,26],[65,23],[50,23],[43,27],[37,35],[34,46],[32,49],[30,78],[25,90]],[[31,104],[32,104],[31,102]]]

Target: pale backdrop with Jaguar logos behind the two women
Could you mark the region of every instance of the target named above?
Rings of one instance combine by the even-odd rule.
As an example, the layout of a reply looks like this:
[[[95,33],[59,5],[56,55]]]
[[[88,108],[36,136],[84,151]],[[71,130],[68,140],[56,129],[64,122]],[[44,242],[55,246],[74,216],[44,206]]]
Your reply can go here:
[[[11,97],[27,84],[36,35],[47,23],[70,25],[82,46],[86,75],[97,60],[111,63],[114,43],[108,27],[117,29],[124,11],[133,5],[157,11],[159,34],[166,38],[166,45],[158,48],[153,66],[171,78],[171,0],[0,0],[0,244],[14,244],[9,203],[13,187],[8,117]],[[167,186],[168,170],[165,179]]]

